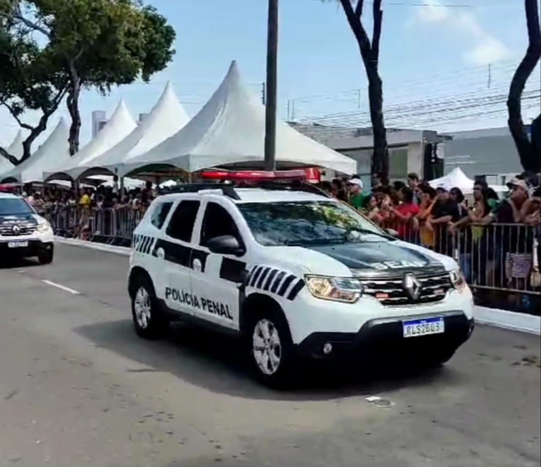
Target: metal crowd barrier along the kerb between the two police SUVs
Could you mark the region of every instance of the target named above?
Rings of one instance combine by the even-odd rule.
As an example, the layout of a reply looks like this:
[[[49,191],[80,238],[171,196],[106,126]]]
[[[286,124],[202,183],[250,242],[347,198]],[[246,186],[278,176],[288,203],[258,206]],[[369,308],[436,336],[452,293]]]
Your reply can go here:
[[[115,246],[130,246],[143,212],[131,208],[48,206],[44,216],[55,235]]]

